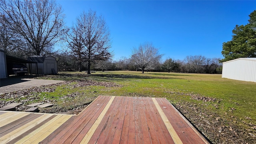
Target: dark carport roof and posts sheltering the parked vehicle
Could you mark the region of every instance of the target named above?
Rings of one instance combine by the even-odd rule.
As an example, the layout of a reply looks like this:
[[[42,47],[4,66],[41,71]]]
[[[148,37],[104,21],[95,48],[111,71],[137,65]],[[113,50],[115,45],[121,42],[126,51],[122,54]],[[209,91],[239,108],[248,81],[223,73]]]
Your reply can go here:
[[[6,55],[6,64],[8,66],[8,64],[28,64],[28,73],[31,74],[31,65],[32,64],[36,64],[36,72],[38,74],[38,66],[37,66],[37,62],[32,62],[30,60],[24,60],[22,58],[16,58],[14,56],[8,56]]]

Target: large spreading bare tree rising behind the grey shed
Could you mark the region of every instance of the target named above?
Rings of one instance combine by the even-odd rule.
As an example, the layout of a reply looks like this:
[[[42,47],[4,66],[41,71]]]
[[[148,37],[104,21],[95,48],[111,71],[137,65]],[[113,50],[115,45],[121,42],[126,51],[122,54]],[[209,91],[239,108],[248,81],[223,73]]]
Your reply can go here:
[[[0,0],[0,12],[28,44],[22,49],[27,54],[52,53],[52,46],[62,36],[64,15],[55,0]]]

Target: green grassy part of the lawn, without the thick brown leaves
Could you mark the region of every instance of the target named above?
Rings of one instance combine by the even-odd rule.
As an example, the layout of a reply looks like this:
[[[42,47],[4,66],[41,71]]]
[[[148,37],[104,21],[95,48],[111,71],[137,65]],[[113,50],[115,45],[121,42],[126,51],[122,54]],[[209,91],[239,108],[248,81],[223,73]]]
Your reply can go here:
[[[79,74],[79,72],[59,72]],[[84,74],[84,72],[80,72]],[[47,77],[49,78],[49,77]],[[221,78],[221,74],[182,74],[165,72],[96,72],[91,76],[52,77],[56,80],[96,80],[115,82],[122,87],[94,87],[98,95],[165,97],[172,104],[181,100],[202,103],[182,94],[200,94],[216,98],[219,114],[256,121],[256,83]],[[79,90],[76,90],[79,91]],[[175,92],[175,93],[174,93]],[[211,103],[211,102],[210,102]],[[233,109],[233,110],[232,110]],[[235,109],[235,110],[234,110]],[[232,112],[231,112],[232,110]],[[226,114],[227,113],[227,114]],[[246,119],[247,118],[247,119]]]

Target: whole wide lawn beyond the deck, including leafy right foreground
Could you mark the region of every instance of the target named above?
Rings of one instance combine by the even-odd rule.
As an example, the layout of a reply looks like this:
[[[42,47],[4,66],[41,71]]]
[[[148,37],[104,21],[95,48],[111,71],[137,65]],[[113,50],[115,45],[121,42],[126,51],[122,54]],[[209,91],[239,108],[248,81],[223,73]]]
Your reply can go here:
[[[78,98],[73,98],[73,102],[99,95],[163,97],[174,104],[213,143],[256,143],[255,82],[221,78],[221,74],[142,74],[130,71],[95,72],[92,75],[85,72],[59,72],[56,76],[39,78],[114,82],[121,86],[72,88],[74,82],[43,95],[56,96],[58,101],[60,97],[78,92]],[[62,101],[59,100],[58,104],[61,105]]]

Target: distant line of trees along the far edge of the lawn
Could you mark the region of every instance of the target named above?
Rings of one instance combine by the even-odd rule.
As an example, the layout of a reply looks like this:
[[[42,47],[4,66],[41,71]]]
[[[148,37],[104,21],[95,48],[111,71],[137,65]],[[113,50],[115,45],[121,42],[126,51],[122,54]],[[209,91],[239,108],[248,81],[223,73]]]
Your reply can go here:
[[[72,56],[67,53],[62,53],[57,56],[59,71],[78,71],[79,65]],[[220,58],[206,58],[205,56],[195,55],[186,56],[184,60],[175,60],[167,58],[163,62],[154,61],[148,67],[145,67],[145,72],[180,72],[180,73],[204,73],[204,74],[221,74],[222,63]],[[82,70],[87,70],[87,64],[82,64]],[[141,71],[132,57],[122,57],[118,60],[97,60],[91,65],[91,70],[106,71],[106,70],[128,70]]]

